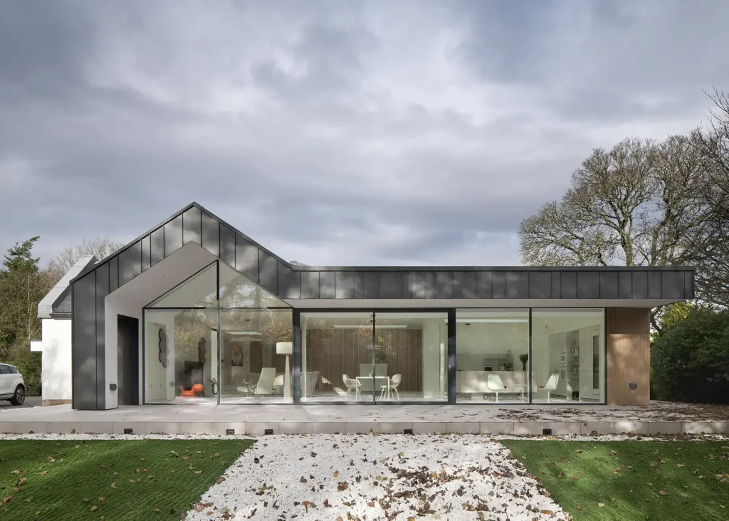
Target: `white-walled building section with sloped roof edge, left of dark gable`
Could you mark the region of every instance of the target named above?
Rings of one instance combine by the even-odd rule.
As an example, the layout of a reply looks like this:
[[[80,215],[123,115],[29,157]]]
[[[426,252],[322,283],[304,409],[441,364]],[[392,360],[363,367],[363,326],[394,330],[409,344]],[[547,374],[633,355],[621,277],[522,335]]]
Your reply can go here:
[[[71,403],[71,280],[93,269],[96,260],[82,256],[38,303],[41,340],[31,340],[31,351],[42,353],[43,405]]]

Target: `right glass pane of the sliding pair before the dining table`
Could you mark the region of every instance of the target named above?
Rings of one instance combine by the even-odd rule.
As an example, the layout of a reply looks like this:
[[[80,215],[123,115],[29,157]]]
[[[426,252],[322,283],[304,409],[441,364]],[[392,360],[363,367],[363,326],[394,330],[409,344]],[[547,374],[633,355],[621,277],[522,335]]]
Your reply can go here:
[[[375,313],[378,402],[448,401],[448,313]]]

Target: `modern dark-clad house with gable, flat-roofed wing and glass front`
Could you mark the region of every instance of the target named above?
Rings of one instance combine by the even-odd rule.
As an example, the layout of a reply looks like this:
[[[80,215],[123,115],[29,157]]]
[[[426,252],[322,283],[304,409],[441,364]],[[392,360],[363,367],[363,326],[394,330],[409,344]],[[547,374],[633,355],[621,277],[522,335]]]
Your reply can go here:
[[[71,281],[73,408],[647,404],[691,267],[313,267],[192,203]]]

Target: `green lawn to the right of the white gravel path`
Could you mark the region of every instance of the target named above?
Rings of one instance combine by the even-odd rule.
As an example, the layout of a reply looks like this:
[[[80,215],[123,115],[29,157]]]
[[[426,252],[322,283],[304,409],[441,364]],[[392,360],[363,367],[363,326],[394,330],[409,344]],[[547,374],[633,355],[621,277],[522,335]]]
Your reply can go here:
[[[729,442],[503,443],[576,521],[729,519]]]

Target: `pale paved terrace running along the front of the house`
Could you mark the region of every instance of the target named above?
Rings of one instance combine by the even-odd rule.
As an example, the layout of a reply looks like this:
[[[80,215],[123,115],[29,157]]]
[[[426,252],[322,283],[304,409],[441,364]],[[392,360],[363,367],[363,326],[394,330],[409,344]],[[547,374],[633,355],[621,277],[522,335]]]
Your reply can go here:
[[[70,405],[2,410],[8,434],[724,434],[729,407],[652,402],[606,405],[142,405],[76,411]]]

